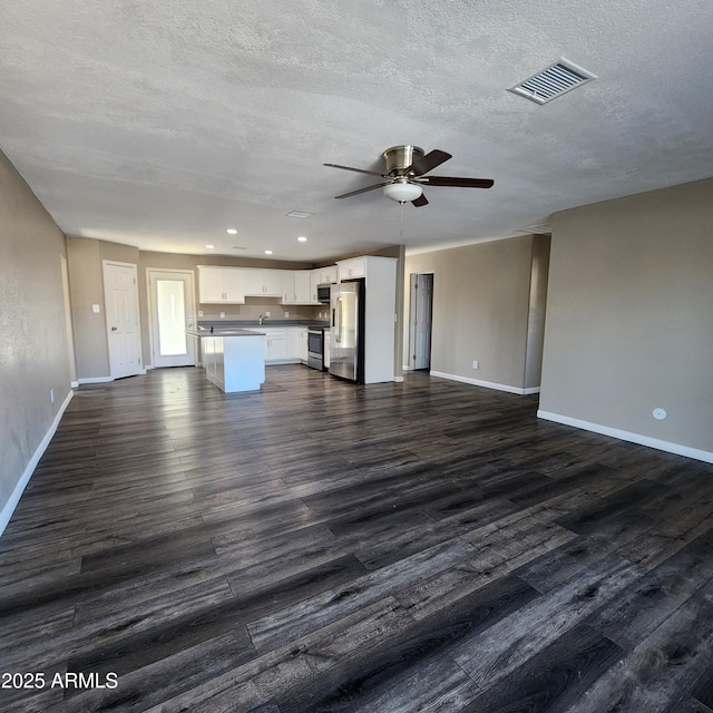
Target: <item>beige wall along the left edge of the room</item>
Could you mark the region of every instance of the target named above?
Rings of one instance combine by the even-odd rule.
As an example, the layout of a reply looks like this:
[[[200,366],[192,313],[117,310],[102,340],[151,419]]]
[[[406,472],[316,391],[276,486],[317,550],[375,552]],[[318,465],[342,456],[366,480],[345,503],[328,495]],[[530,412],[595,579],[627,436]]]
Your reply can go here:
[[[64,234],[0,153],[0,531],[71,390],[62,255]]]

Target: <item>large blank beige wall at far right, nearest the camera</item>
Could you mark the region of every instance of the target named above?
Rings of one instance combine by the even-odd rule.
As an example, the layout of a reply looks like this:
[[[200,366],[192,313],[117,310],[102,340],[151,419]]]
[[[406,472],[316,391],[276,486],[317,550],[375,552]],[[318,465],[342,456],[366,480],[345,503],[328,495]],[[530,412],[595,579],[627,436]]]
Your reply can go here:
[[[554,216],[543,416],[713,455],[712,226],[713,179]]]

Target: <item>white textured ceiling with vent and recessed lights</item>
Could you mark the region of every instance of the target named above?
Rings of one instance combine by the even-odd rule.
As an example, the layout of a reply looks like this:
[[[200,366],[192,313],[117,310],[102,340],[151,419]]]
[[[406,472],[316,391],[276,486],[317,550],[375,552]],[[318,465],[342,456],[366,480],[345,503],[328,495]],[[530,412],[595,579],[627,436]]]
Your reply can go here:
[[[713,175],[711,28],[711,0],[3,0],[0,147],[66,233],[143,250],[508,237]],[[507,91],[563,56],[598,79]],[[323,163],[381,170],[397,144],[495,187],[334,199],[378,179]]]

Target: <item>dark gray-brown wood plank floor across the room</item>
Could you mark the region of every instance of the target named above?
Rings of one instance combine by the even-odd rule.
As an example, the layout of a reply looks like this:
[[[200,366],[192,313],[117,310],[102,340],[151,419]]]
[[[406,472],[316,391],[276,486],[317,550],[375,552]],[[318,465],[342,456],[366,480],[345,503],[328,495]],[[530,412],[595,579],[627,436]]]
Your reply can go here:
[[[713,466],[536,410],[82,387],[0,538],[0,670],[40,674],[0,710],[713,713]]]

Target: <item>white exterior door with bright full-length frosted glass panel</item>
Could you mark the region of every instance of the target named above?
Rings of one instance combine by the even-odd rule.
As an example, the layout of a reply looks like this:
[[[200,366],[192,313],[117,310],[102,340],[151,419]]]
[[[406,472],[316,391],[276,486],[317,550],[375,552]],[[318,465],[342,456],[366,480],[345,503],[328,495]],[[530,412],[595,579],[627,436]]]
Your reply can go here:
[[[195,365],[198,340],[186,334],[196,325],[193,272],[148,270],[147,275],[152,365]]]

